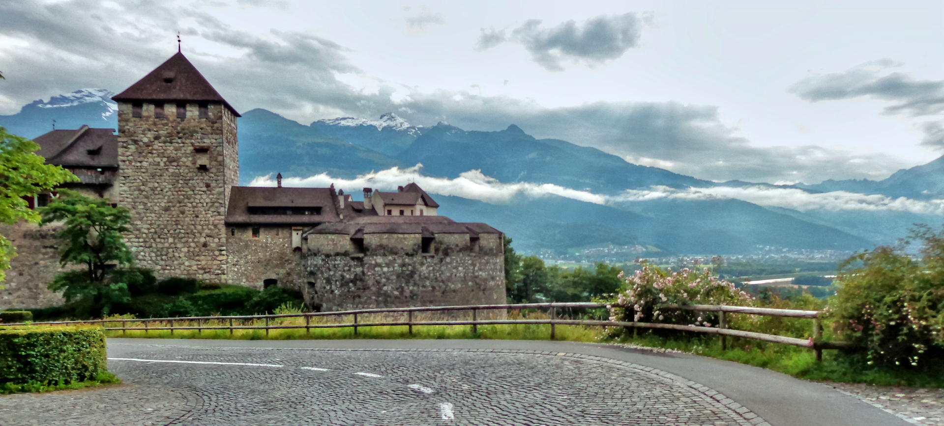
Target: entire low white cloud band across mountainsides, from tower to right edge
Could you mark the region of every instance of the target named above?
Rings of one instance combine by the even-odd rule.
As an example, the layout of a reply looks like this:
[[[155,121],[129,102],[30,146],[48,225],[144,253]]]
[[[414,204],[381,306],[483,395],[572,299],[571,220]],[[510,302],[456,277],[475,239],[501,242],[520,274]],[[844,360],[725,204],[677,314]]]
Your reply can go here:
[[[338,179],[331,177],[328,173],[321,173],[305,178],[285,178],[282,179],[282,185],[295,188],[326,188],[333,184],[335,188],[346,189],[348,193],[360,193],[362,188],[396,190],[397,186],[402,186],[406,182],[415,182],[432,194],[457,196],[490,204],[511,203],[519,196],[537,198],[551,195],[597,205],[638,203],[659,199],[736,199],[755,205],[784,207],[799,211],[903,211],[944,216],[944,200],[919,201],[904,197],[891,198],[885,195],[866,195],[846,191],[810,193],[797,188],[762,186],[683,189],[655,186],[649,189],[627,189],[618,195],[609,196],[550,184],[502,183],[482,174],[479,170],[463,172],[455,179],[430,177],[423,175],[422,168],[421,164],[406,169],[395,167],[362,174],[354,179]],[[257,177],[249,184],[252,187],[275,187],[276,185],[271,175]]]

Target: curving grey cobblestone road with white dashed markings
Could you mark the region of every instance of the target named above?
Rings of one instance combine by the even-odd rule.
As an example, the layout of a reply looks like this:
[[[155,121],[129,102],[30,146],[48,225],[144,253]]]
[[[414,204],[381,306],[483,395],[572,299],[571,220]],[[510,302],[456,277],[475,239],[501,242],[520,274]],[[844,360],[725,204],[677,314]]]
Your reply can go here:
[[[575,353],[121,345],[109,356],[126,385],[0,397],[0,424],[768,426],[705,386]]]

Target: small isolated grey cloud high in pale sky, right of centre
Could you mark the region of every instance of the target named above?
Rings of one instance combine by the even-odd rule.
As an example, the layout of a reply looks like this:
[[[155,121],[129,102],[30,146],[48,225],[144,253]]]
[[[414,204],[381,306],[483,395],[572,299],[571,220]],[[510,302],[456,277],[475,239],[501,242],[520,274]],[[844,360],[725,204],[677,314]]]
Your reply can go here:
[[[510,34],[495,28],[481,30],[476,48],[490,49],[503,42],[521,44],[534,62],[549,71],[562,71],[562,62],[597,66],[638,47],[642,27],[650,15],[640,18],[635,13],[602,15],[578,24],[575,21],[542,27],[540,20],[529,20],[514,28]]]

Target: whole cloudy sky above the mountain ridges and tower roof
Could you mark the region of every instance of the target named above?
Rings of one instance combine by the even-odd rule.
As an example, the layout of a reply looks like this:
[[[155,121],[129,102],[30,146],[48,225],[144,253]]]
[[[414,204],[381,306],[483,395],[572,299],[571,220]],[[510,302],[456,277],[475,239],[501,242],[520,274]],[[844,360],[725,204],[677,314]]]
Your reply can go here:
[[[237,110],[516,124],[702,179],[883,179],[944,154],[944,2],[0,2],[0,114],[177,49]]]

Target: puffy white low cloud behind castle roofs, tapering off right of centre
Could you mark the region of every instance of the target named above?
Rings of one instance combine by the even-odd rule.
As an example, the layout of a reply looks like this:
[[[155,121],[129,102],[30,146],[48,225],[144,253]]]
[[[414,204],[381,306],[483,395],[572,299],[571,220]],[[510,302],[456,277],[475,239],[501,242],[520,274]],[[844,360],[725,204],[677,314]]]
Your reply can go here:
[[[285,178],[282,179],[282,185],[295,188],[326,188],[333,184],[334,188],[347,188],[347,193],[358,193],[362,188],[396,190],[396,187],[406,182],[415,182],[430,193],[480,200],[490,204],[510,203],[519,195],[534,198],[558,195],[598,205],[606,202],[606,197],[603,195],[558,185],[528,182],[501,183],[495,178],[482,174],[479,170],[463,172],[455,179],[446,179],[424,176],[420,172],[422,168],[422,164],[406,169],[395,167],[381,172],[362,174],[354,179],[336,179],[328,173],[321,173],[305,178]],[[275,187],[276,185],[271,175],[257,177],[249,184],[250,187]]]

